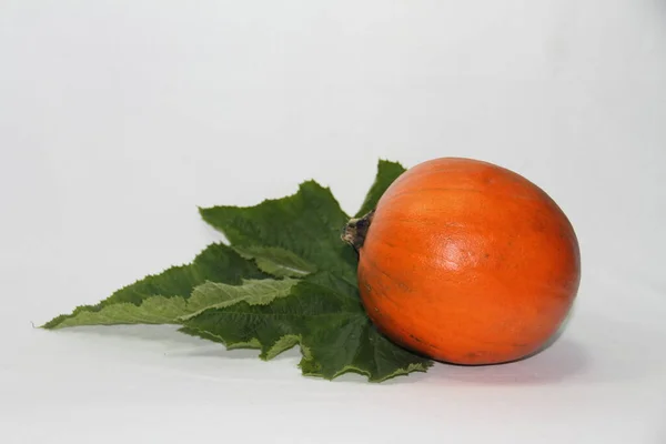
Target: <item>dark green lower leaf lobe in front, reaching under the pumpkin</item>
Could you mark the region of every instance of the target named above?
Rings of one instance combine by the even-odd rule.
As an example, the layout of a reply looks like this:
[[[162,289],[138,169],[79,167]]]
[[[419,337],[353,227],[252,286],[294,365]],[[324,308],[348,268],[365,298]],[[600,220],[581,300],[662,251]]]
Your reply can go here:
[[[287,297],[204,310],[184,324],[183,332],[229,347],[259,347],[264,360],[300,344],[303,373],[330,380],[356,372],[384,381],[432,365],[381,335],[355,286],[326,272],[301,280]]]

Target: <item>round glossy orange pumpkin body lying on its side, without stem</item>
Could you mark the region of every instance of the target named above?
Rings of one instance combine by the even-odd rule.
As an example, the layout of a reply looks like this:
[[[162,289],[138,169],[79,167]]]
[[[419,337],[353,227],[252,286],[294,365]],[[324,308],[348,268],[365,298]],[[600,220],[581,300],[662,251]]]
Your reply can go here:
[[[403,173],[359,248],[359,289],[377,329],[456,364],[537,352],[579,281],[576,234],[557,204],[525,178],[470,159]]]

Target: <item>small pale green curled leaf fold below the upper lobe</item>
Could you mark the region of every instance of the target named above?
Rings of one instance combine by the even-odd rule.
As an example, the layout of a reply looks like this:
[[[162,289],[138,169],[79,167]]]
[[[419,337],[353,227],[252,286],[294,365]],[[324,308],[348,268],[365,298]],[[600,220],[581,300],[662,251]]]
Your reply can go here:
[[[303,278],[316,271],[316,266],[295,253],[278,246],[235,246],[245,259],[253,259],[264,273],[278,278]]]

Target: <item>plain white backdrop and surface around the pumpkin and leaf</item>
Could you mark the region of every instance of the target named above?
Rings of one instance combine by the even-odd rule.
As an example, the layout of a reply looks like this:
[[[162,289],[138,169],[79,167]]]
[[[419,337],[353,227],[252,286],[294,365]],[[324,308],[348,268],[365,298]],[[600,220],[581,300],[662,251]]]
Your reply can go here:
[[[0,442],[666,443],[666,4],[0,4]],[[372,385],[170,327],[31,327],[190,261],[196,205],[310,178],[352,213],[379,158],[544,188],[583,253],[554,346]]]

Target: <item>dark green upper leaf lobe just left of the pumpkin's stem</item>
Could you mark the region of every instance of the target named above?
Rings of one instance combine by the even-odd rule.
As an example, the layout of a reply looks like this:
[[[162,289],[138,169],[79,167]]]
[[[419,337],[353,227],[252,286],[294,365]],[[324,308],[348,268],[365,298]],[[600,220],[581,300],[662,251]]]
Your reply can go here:
[[[350,218],[331,191],[314,181],[302,183],[293,195],[255,206],[213,206],[200,212],[234,248],[280,248],[317,270],[356,282],[356,256],[340,240]]]

